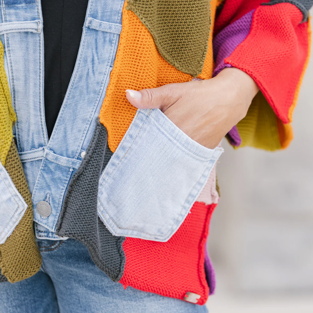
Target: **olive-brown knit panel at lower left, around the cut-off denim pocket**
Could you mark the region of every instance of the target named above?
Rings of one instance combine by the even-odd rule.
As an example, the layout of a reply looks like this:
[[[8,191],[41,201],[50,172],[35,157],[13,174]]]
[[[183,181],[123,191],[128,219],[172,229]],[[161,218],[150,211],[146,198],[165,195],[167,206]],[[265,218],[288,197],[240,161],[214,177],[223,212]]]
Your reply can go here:
[[[13,233],[4,244],[0,244],[1,273],[6,276],[8,281],[14,283],[37,273],[41,266],[41,256],[33,230],[33,204],[31,195],[13,140],[6,158],[5,169],[28,205],[23,218]]]

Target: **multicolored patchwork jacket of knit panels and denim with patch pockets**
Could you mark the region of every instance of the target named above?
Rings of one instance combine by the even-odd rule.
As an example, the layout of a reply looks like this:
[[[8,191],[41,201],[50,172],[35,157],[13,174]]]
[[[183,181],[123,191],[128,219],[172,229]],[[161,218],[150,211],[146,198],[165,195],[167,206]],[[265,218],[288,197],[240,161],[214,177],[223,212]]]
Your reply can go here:
[[[146,0],[90,0],[74,72],[48,140],[40,1],[1,0],[3,66],[17,115],[13,135],[32,195],[37,238],[80,240],[95,264],[125,287],[205,303],[214,290],[205,244],[218,202],[215,163],[223,149],[201,146],[160,110],[131,107],[125,90],[195,76],[209,79],[236,66],[256,80],[263,94],[254,100],[246,124],[238,125],[239,133],[235,127],[228,134],[230,142],[238,146],[241,136],[243,145],[285,147],[291,136],[288,112],[308,54],[307,8],[239,2],[225,1],[213,51],[216,1],[187,1],[185,6],[156,1],[151,7]],[[236,7],[244,9],[229,19],[226,13]],[[281,80],[294,90],[287,100],[264,78],[263,47],[244,46],[251,33],[266,37],[262,18],[278,14],[286,21],[293,18],[286,25],[303,51],[294,71],[298,79]],[[277,41],[284,31],[275,34]],[[166,38],[172,38],[171,45]],[[294,57],[290,45],[281,49]],[[275,49],[269,50],[267,59],[275,59]],[[256,57],[255,64],[249,61]],[[270,134],[264,121],[271,123]],[[28,205],[3,166],[0,175],[1,249]]]

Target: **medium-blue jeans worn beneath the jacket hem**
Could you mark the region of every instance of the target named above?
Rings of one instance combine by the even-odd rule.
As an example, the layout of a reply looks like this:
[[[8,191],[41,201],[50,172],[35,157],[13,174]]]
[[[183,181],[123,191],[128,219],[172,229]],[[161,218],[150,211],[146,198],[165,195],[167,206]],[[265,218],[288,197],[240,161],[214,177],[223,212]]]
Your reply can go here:
[[[32,277],[0,283],[1,313],[207,313],[200,306],[114,283],[74,239],[38,240],[42,267]]]

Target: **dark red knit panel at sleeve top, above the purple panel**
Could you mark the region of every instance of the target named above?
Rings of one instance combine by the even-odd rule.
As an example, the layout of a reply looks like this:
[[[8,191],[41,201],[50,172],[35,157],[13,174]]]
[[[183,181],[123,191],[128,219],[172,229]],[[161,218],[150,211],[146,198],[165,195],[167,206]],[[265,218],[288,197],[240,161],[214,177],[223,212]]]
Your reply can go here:
[[[214,34],[269,0],[226,0],[214,24]]]

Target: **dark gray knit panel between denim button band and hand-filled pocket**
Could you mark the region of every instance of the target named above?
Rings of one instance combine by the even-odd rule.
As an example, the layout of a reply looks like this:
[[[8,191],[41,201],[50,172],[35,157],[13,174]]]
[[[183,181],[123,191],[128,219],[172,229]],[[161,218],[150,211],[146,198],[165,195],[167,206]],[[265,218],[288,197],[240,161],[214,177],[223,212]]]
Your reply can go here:
[[[125,267],[125,237],[113,236],[97,213],[99,179],[111,156],[106,128],[98,122],[86,155],[69,183],[56,234],[85,244],[95,264],[111,280],[119,281]]]

